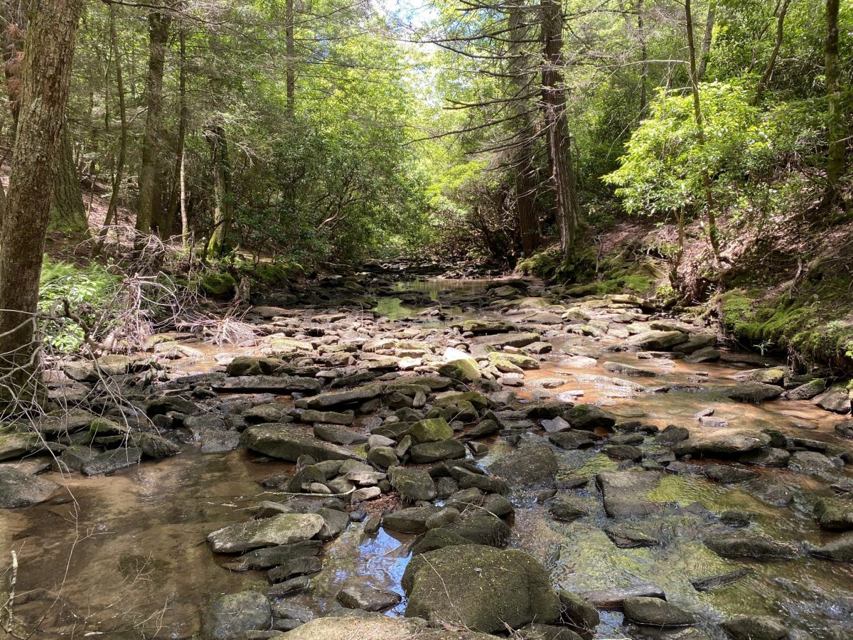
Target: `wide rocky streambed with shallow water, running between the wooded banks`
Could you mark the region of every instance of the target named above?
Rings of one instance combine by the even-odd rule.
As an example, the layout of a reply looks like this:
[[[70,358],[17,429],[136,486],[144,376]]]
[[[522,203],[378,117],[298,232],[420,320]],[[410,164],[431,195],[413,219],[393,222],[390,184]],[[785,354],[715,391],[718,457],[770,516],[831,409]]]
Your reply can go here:
[[[853,637],[846,390],[633,295],[399,277],[53,372],[0,434],[6,630]]]

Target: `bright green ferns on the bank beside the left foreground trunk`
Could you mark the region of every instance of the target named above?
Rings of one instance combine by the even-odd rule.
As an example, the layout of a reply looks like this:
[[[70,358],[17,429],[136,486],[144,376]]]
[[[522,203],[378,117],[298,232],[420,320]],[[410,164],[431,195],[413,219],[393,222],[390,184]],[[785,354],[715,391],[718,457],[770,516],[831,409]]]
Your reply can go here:
[[[101,265],[80,267],[67,262],[44,259],[38,310],[54,315],[63,312],[67,300],[71,311],[90,329],[107,330],[113,320],[105,310],[117,294],[121,277]],[[68,318],[50,320],[44,327],[45,340],[61,353],[76,352],[83,346],[84,333],[78,323]]]

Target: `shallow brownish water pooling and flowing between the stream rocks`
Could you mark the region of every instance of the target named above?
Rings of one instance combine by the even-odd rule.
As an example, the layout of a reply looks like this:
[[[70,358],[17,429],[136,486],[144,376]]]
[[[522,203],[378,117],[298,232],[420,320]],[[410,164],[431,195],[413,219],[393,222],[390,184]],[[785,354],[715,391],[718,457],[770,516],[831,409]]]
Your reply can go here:
[[[366,300],[365,306],[380,314],[380,323],[440,327],[446,316],[483,316],[471,303],[484,294],[486,284],[399,283],[392,294],[376,302]],[[419,315],[425,309],[431,315]],[[850,448],[834,435],[838,417],[809,402],[742,404],[701,390],[709,385],[736,384],[732,376],[746,369],[746,364],[686,364],[682,360],[638,364],[632,353],[604,354],[612,341],[572,335],[572,346],[601,355],[598,364],[573,369],[546,358],[541,369],[526,372],[525,387],[516,389],[519,397],[536,398],[537,383],[558,379],[562,385],[553,393],[571,390],[578,401],[606,404],[618,416],[641,417],[659,428],[670,424],[695,428],[694,414],[711,408],[732,426],[774,428]],[[565,336],[554,340],[554,347],[564,343]],[[202,347],[199,357],[179,360],[173,366],[183,371],[208,370],[217,365],[216,358],[223,352],[248,351],[251,349]],[[632,380],[675,388],[669,393],[645,393],[613,387],[606,380],[613,375],[601,368],[605,360],[653,369],[659,374],[653,383]],[[531,433],[525,439],[542,438]],[[479,463],[489,463],[512,449],[502,439],[490,445]],[[592,450],[556,452],[564,479],[589,477],[617,467],[611,458]],[[206,534],[247,519],[247,510],[259,500],[276,499],[264,494],[259,480],[292,473],[292,464],[270,461],[243,449],[202,455],[198,445],[184,445],[177,457],[142,463],[110,477],[44,474],[66,485],[65,495],[30,508],[0,512],[0,567],[9,567],[12,551],[18,560],[15,615],[27,621],[27,628],[38,629],[33,637],[194,637],[206,608],[217,596],[249,587],[264,591],[268,586],[262,572],[220,567],[222,560],[211,554]],[[532,495],[514,494],[517,510],[511,546],[536,556],[548,567],[554,584],[569,591],[641,582],[660,585],[670,600],[702,614],[705,622],[700,628],[707,637],[722,637],[711,622],[734,614],[786,618],[818,639],[853,637],[851,563],[809,556],[786,561],[728,561],[702,544],[707,513],[719,515],[727,509],[750,511],[755,515],[755,529],[775,538],[798,544],[822,544],[831,538],[810,517],[815,497],[832,494],[826,482],[786,470],[763,474],[791,492],[790,507],[772,506],[744,486],[719,485],[697,474],[664,475],[649,498],[678,509],[649,519],[648,526],[666,544],[641,549],[618,549],[602,532],[606,516],[592,481],[580,491],[589,502],[591,515],[573,522],[555,521]],[[324,549],[323,568],[312,577],[311,589],[293,600],[316,614],[326,614],[340,608],[334,596],[345,585],[366,583],[402,593],[399,582],[411,542],[410,536],[381,529],[377,535],[367,536],[363,524],[352,522]],[[744,566],[754,573],[734,585],[700,593],[690,583]],[[4,574],[7,583],[10,571]],[[400,615],[404,608],[405,602],[386,614]],[[602,613],[598,631],[601,638],[698,637],[684,635],[683,630],[667,633],[624,626],[622,615],[616,612]]]

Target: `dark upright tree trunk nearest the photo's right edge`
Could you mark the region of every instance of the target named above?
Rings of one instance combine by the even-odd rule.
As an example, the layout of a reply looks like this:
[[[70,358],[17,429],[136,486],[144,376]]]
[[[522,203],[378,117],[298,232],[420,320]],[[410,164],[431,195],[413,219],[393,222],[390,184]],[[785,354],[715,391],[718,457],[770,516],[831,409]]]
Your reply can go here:
[[[838,198],[838,182],[844,175],[844,119],[841,113],[841,84],[838,82],[838,0],[827,0],[827,201]]]

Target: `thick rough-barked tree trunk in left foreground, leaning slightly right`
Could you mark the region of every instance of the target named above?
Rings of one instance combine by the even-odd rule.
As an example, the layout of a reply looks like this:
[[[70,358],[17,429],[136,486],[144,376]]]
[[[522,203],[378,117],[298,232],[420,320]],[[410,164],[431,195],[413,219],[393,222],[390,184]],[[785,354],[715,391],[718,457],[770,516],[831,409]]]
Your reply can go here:
[[[82,0],[42,0],[26,33],[20,115],[0,243],[0,389],[38,400],[34,314]]]

